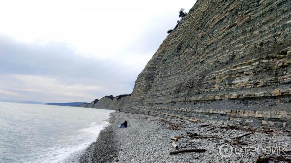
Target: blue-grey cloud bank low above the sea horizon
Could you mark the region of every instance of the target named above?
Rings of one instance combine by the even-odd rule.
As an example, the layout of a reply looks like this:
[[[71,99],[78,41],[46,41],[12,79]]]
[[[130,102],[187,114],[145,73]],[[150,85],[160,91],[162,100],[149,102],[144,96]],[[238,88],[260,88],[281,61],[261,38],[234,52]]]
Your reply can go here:
[[[131,93],[139,71],[84,57],[62,43],[25,44],[0,37],[1,100],[88,101]]]

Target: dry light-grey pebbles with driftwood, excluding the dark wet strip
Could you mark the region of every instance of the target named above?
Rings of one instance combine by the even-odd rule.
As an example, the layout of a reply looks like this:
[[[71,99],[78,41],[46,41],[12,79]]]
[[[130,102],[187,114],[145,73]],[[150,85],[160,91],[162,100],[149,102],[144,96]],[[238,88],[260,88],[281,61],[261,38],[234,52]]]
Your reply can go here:
[[[119,151],[118,156],[112,159],[113,163],[254,163],[258,158],[267,158],[269,163],[280,163],[280,161],[287,163],[291,159],[290,151],[285,154],[266,155],[232,154],[229,158],[221,157],[219,154],[219,147],[225,143],[233,147],[285,147],[287,151],[291,149],[290,130],[274,128],[269,132],[270,129],[252,128],[249,129],[252,130],[250,132],[242,129],[240,125],[230,127],[122,112],[115,112],[113,115],[116,120],[111,127],[116,131],[116,150]],[[124,120],[128,121],[128,128],[117,128],[117,124],[121,124]],[[170,130],[168,127],[171,124],[181,124],[183,127]],[[170,139],[175,136],[183,136],[176,141],[177,149],[172,147]],[[199,136],[201,138],[195,138]],[[236,141],[245,144],[232,143]],[[203,152],[170,155],[173,151],[199,151],[197,149]]]

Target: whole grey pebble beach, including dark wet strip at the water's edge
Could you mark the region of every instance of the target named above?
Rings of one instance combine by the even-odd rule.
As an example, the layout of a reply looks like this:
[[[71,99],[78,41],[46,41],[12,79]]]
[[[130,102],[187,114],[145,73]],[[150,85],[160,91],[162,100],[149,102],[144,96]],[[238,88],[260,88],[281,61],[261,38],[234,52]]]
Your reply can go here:
[[[118,128],[128,121],[128,127]],[[102,130],[96,140],[80,157],[80,163],[248,163],[255,162],[260,154],[233,154],[230,158],[219,155],[221,144],[237,146],[235,138],[243,136],[240,143],[246,147],[286,147],[291,149],[291,132],[285,129],[238,128],[222,124],[191,122],[185,119],[150,116],[124,112],[111,113],[110,126]],[[198,136],[191,136],[197,134]],[[182,135],[175,149],[170,137]],[[201,153],[171,151],[183,149],[205,149]],[[278,157],[279,155],[272,155]],[[290,153],[284,155],[291,159]],[[280,160],[281,161],[281,160]],[[271,160],[269,163],[276,163]],[[284,163],[284,161],[282,161]]]

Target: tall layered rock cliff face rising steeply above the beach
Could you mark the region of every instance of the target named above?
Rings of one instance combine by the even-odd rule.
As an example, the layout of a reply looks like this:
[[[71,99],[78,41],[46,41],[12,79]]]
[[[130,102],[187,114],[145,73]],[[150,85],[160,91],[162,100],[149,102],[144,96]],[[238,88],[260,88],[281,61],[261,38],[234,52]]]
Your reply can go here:
[[[291,1],[198,0],[139,74],[126,110],[285,126],[290,99]]]

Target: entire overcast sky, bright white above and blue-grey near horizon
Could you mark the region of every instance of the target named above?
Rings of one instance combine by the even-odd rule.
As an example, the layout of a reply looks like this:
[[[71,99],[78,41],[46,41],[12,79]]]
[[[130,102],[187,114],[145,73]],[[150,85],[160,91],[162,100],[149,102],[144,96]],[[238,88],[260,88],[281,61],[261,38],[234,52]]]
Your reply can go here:
[[[131,93],[196,0],[0,0],[0,101]]]

